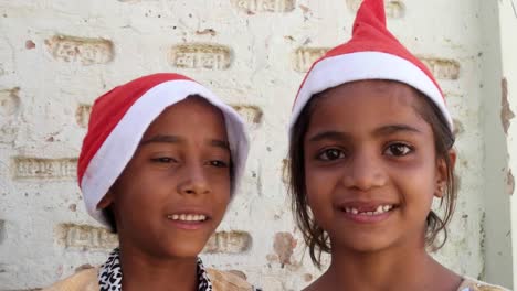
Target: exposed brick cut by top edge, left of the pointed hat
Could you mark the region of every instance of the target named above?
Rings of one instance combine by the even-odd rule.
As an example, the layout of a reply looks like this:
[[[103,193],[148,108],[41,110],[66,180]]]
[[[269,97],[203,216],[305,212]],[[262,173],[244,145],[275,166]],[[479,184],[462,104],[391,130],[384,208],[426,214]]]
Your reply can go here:
[[[286,13],[295,10],[296,0],[231,0],[233,6],[247,13],[278,12]]]

